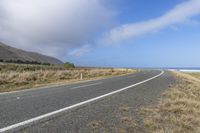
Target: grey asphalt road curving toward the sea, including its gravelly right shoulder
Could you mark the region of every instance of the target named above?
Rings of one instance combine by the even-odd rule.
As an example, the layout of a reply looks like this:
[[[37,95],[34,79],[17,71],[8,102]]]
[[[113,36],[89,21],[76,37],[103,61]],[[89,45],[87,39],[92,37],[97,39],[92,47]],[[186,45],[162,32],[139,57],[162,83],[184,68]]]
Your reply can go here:
[[[145,70],[126,76],[0,94],[0,132],[93,132],[88,123],[110,119],[117,107],[156,101],[174,82],[169,72]],[[108,120],[106,120],[106,118]],[[97,124],[98,125],[98,124]],[[102,128],[102,127],[101,127]],[[111,126],[99,132],[114,132]]]

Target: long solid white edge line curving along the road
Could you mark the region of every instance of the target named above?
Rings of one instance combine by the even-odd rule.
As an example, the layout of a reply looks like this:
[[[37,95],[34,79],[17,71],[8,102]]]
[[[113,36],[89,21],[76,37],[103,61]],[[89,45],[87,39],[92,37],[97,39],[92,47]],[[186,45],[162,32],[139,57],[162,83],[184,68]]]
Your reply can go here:
[[[144,81],[138,82],[138,83],[136,83],[136,84],[127,86],[127,87],[122,88],[122,89],[119,89],[119,90],[117,90],[117,91],[113,91],[113,92],[110,92],[110,93],[107,93],[107,94],[104,94],[104,95],[101,95],[101,96],[98,96],[98,97],[95,97],[95,98],[92,98],[92,99],[89,99],[89,100],[86,100],[86,101],[83,101],[83,102],[80,102],[80,103],[77,103],[77,104],[71,105],[71,106],[69,106],[69,107],[62,108],[62,109],[57,110],[57,111],[53,111],[53,112],[51,112],[51,113],[47,113],[47,114],[44,114],[44,115],[41,115],[41,116],[38,116],[38,117],[35,117],[35,118],[32,118],[32,119],[29,119],[29,120],[26,120],[26,121],[23,121],[23,122],[20,122],[20,123],[11,125],[11,126],[8,126],[8,127],[1,128],[1,129],[0,129],[0,132],[2,133],[2,132],[10,131],[10,130],[13,130],[13,129],[15,129],[15,128],[19,128],[19,127],[22,127],[22,126],[31,124],[31,123],[33,123],[33,122],[39,121],[39,120],[41,120],[41,119],[44,119],[44,118],[47,118],[47,117],[56,115],[56,114],[58,114],[58,113],[61,113],[61,112],[64,112],[64,111],[67,111],[67,110],[76,108],[76,107],[78,107],[78,106],[82,106],[82,105],[85,105],[85,104],[88,104],[88,103],[97,101],[97,100],[99,100],[99,99],[108,97],[108,96],[110,96],[110,95],[113,95],[113,94],[122,92],[122,91],[124,91],[124,90],[130,89],[130,88],[132,88],[132,87],[141,85],[141,84],[146,83],[146,82],[148,82],[148,81],[151,81],[151,80],[153,80],[153,79],[155,79],[155,78],[160,77],[160,76],[163,75],[163,74],[164,74],[164,71],[161,71],[160,74],[158,74],[158,75],[156,75],[156,76],[154,76],[154,77],[152,77],[152,78],[149,78],[149,79],[146,79],[146,80],[144,80]]]

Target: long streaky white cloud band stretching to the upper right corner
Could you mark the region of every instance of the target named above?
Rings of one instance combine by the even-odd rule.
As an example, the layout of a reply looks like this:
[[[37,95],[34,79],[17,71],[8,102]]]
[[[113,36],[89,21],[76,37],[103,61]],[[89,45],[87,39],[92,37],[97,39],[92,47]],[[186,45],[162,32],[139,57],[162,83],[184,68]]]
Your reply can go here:
[[[200,14],[200,0],[187,0],[161,17],[144,22],[125,24],[106,32],[104,43],[118,43],[138,36],[158,31],[162,28],[188,21]]]

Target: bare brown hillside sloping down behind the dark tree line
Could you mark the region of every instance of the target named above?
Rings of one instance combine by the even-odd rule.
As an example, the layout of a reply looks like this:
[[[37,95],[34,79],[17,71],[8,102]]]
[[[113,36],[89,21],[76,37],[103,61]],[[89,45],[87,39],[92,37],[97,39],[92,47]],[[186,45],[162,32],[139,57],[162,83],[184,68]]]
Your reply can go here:
[[[39,53],[28,52],[8,46],[0,42],[0,61],[4,62],[19,62],[19,63],[41,63],[41,64],[63,64],[62,61],[42,55]]]

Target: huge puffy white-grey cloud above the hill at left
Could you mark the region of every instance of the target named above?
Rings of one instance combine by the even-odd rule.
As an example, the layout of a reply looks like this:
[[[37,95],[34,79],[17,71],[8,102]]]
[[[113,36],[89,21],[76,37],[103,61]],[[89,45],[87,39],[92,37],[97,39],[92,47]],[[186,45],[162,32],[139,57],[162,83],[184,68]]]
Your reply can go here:
[[[102,0],[0,0],[0,41],[60,56],[92,41],[112,16]]]

